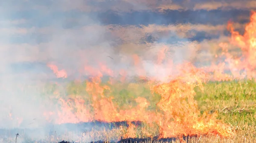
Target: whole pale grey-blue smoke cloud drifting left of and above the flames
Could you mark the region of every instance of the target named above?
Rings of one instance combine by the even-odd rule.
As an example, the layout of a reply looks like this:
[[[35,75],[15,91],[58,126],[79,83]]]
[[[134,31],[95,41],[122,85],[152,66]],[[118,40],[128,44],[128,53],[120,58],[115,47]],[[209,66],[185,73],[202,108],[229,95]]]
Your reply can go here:
[[[108,8],[115,12],[106,12],[109,10],[104,7],[106,3],[93,3],[89,0],[9,0],[0,7],[0,12],[4,15],[0,19],[0,128],[39,128],[40,137],[32,134],[33,131],[28,136],[42,138],[48,135],[49,126],[46,125],[49,121],[44,112],[58,110],[52,106],[54,103],[50,98],[55,95],[47,92],[47,85],[57,81],[54,72],[47,66],[49,64],[67,72],[67,79],[59,79],[58,84],[90,76],[90,72],[84,69],[85,66],[100,70],[100,65],[105,65],[114,74],[125,70],[128,77],[132,77],[140,74],[138,67],[134,66],[133,58],[138,55],[139,67],[145,70],[139,76],[164,81],[166,76],[175,72],[175,64],[194,62],[198,58],[198,45],[206,43],[189,40],[193,34],[188,34],[188,31],[205,31],[211,34],[225,28],[209,18],[205,21],[200,17],[196,18],[198,13],[194,11],[190,11],[190,16],[186,15],[186,11],[174,11],[176,15],[173,14],[169,19],[166,18],[168,13],[122,13],[131,10],[156,10],[162,5],[154,0],[142,0],[140,3],[123,0],[121,8],[111,1]],[[125,4],[129,8],[122,9]],[[169,15],[172,15],[171,12]],[[212,15],[213,12],[202,13]],[[227,12],[226,16],[232,15],[230,13],[232,12]],[[247,14],[247,11],[244,13]],[[194,25],[186,25],[188,17],[194,17],[190,21]],[[177,22],[184,21],[184,25],[177,25]],[[225,22],[218,21],[221,21],[220,24]],[[217,28],[199,25],[209,22],[213,22]],[[125,25],[126,23],[135,26]],[[148,25],[152,23],[166,25]],[[172,26],[168,27],[169,24]],[[157,64],[163,47],[166,48],[160,56],[163,60]]]

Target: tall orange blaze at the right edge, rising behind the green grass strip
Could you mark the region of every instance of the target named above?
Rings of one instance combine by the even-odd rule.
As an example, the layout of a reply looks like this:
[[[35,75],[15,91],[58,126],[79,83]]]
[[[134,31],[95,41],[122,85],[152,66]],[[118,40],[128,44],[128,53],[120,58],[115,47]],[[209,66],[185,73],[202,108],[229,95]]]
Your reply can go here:
[[[233,28],[232,22],[229,22],[227,29],[231,33],[230,44],[221,42],[219,46],[222,48],[221,56],[225,56],[225,62],[219,63],[218,66],[213,64],[209,67],[209,71],[217,71],[214,73],[212,80],[232,80],[232,79],[252,79],[256,76],[256,12],[252,12],[250,22],[245,27],[244,35],[240,35]],[[242,55],[234,57],[228,53],[228,47],[237,46],[240,48]],[[218,56],[215,56],[216,58]],[[225,70],[230,70],[230,74],[226,74]]]

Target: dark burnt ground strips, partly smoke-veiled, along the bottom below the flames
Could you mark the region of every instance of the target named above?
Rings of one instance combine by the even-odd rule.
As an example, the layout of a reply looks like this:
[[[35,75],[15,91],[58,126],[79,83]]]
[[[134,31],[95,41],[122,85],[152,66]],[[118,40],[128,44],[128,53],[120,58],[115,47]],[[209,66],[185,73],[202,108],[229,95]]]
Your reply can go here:
[[[136,125],[141,125],[142,122],[139,121],[134,121],[131,122]],[[9,137],[15,137],[15,135],[18,133],[20,136],[19,137],[25,137],[26,136],[36,136],[36,135],[45,135],[45,136],[52,136],[55,135],[56,132],[58,134],[65,134],[67,130],[69,131],[74,131],[74,132],[84,132],[84,131],[90,131],[91,129],[113,129],[119,126],[129,126],[127,122],[122,121],[122,122],[113,122],[113,123],[106,123],[106,122],[101,122],[101,121],[95,121],[95,122],[87,122],[87,123],[65,123],[61,125],[55,125],[55,124],[47,124],[46,126],[42,128],[36,128],[36,129],[0,129],[0,138],[3,138],[4,140],[8,140]],[[19,140],[18,137],[18,140]],[[183,138],[183,140],[186,140],[188,143],[188,136],[183,136],[179,137],[179,139]],[[72,139],[71,139],[72,140]],[[146,142],[173,142],[177,140],[176,137],[172,138],[162,138],[159,139],[158,137],[154,138],[126,138],[126,139],[121,139],[115,143],[146,143]],[[38,143],[46,143],[45,140],[37,140]],[[75,142],[70,142],[69,141],[61,141],[59,143],[75,143]],[[94,141],[90,143],[106,143],[105,141],[99,140],[99,141]]]

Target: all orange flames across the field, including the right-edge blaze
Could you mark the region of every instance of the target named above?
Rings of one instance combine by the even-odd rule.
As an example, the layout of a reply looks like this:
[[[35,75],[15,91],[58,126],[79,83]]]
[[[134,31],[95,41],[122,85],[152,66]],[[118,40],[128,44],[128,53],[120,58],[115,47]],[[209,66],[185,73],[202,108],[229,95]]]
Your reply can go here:
[[[145,80],[144,84],[150,89],[148,95],[144,95],[140,90],[135,90],[141,86],[140,84],[129,83],[127,85],[125,79],[128,72],[121,70],[119,74],[123,85],[118,84],[118,86],[131,89],[134,94],[141,95],[141,97],[130,95],[126,90],[117,90],[116,87],[113,87],[114,78],[107,83],[103,83],[101,78],[104,74],[111,77],[116,74],[105,64],[99,63],[99,69],[85,66],[85,72],[88,75],[93,75],[90,81],[86,81],[86,94],[59,98],[61,109],[55,113],[58,115],[55,123],[127,121],[129,127],[122,135],[126,138],[137,137],[135,129],[137,126],[131,124],[132,121],[141,121],[152,128],[157,126],[158,137],[160,138],[181,135],[233,136],[235,133],[232,127],[217,120],[217,113],[201,115],[197,102],[194,100],[196,94],[194,88],[199,87],[204,90],[203,83],[209,80],[243,79],[246,76],[250,79],[256,76],[256,12],[252,13],[250,23],[247,24],[243,36],[234,30],[231,23],[228,24],[228,29],[231,33],[230,44],[241,48],[241,57],[234,58],[228,53],[229,44],[220,43],[219,46],[223,52],[222,55],[215,55],[215,58],[225,56],[225,62],[212,64],[207,68],[197,68],[189,62],[175,66],[172,61],[169,61],[169,65],[172,65],[178,74],[170,73],[166,77],[170,80],[165,83],[153,80],[157,78],[147,78],[148,81]],[[166,50],[166,47],[160,50],[156,61],[158,65],[161,65],[165,59]],[[146,74],[142,68],[140,57],[133,55],[132,58],[138,76],[143,78]],[[58,67],[52,64],[48,66],[57,77],[67,77],[64,70],[62,72],[58,71]],[[225,72],[227,69],[230,70],[231,75]],[[137,89],[143,90],[143,87]],[[126,99],[126,96],[131,96],[132,99],[123,109],[116,104],[116,102],[121,103],[122,101],[114,96],[114,94],[121,93],[125,94],[123,98]],[[149,100],[157,95],[160,96],[159,101],[152,100],[156,101],[156,104],[154,108],[150,108],[152,105]],[[155,136],[153,133],[146,132],[145,129],[143,129],[143,132],[147,137]]]

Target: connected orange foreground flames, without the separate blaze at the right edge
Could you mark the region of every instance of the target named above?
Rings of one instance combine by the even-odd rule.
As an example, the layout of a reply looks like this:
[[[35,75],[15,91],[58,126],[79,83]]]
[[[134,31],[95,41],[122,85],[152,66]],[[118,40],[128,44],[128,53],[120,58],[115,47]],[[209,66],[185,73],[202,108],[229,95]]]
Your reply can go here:
[[[186,70],[182,67],[186,67]],[[194,87],[201,89],[207,78],[207,73],[194,67],[190,63],[179,67],[180,75],[170,82],[152,85],[148,82],[151,95],[160,95],[160,101],[155,110],[148,110],[150,103],[146,98],[134,98],[136,106],[128,109],[117,109],[113,103],[114,97],[105,95],[113,93],[108,85],[102,85],[101,77],[95,76],[87,81],[86,91],[91,95],[93,112],[90,112],[82,96],[73,99],[59,99],[61,110],[58,112],[59,120],[56,123],[79,123],[90,121],[119,122],[128,121],[129,127],[123,137],[136,137],[136,126],[131,121],[141,121],[148,126],[157,125],[159,137],[175,137],[177,135],[220,135],[229,137],[233,130],[229,126],[215,119],[213,115],[201,115],[194,100]],[[136,84],[134,84],[137,86]],[[130,84],[129,88],[133,88]],[[62,112],[61,112],[62,111]],[[143,130],[147,137],[154,137],[150,132]]]

